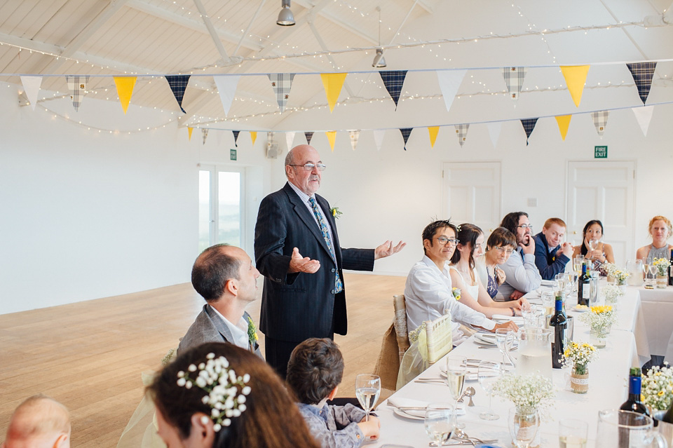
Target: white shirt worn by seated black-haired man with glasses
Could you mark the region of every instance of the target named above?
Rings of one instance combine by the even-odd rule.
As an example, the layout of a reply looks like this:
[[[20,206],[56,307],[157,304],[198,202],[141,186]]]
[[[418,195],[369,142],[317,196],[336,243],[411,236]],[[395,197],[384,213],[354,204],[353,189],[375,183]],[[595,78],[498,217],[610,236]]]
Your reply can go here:
[[[451,312],[454,321],[452,334],[454,344],[463,339],[463,332],[458,323],[484,327],[493,330],[496,324],[484,314],[461,304],[451,292],[449,268],[444,266],[440,271],[433,260],[423,256],[409,271],[405,285],[405,302],[407,304],[407,329],[416,330],[425,320],[435,320],[444,315],[444,310]]]

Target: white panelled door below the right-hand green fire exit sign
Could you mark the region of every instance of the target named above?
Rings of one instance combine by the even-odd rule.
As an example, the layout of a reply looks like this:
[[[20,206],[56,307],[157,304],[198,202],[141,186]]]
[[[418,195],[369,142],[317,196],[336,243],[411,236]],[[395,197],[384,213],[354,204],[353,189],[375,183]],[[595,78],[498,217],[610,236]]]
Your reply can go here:
[[[585,224],[600,219],[616,264],[634,258],[634,173],[633,161],[569,161],[567,240],[581,244]]]

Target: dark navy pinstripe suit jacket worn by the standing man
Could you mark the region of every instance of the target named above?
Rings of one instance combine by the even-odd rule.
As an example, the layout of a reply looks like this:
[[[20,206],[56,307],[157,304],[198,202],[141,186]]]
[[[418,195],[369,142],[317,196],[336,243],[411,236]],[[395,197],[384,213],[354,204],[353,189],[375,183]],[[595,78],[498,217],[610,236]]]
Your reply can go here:
[[[343,280],[343,269],[374,270],[374,250],[342,249],[329,203],[317,194],[315,200],[332,228],[336,263],[315,217],[290,184],[259,204],[254,227],[255,264],[264,276],[259,329],[280,341],[346,334],[346,294],[334,293],[334,271],[339,269]],[[320,262],[318,272],[287,273],[294,247]]]

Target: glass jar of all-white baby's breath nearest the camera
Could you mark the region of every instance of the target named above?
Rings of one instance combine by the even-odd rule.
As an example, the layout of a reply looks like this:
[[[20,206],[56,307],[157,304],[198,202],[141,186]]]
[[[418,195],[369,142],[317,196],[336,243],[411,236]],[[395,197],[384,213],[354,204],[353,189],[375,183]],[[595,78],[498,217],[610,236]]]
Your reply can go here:
[[[556,396],[552,381],[537,372],[526,375],[508,373],[496,382],[494,393],[514,403],[515,409],[510,412],[508,421],[512,437],[517,438],[516,434],[520,433],[523,440],[531,435],[533,441],[529,447],[539,447],[538,427],[541,419],[548,419],[549,408]]]

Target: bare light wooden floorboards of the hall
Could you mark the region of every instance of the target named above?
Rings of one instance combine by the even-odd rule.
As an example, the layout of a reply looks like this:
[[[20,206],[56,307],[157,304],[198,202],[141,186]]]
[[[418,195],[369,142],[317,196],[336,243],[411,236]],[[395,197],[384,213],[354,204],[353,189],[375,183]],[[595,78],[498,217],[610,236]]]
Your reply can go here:
[[[344,277],[349,332],[336,338],[346,360],[339,396],[353,397],[355,375],[374,369],[393,320],[391,298],[404,290],[405,278]],[[141,372],[161,366],[203,303],[191,284],[182,284],[0,315],[0,440],[13,409],[45,393],[70,409],[73,447],[116,447],[142,398]],[[256,322],[259,306],[255,301],[248,310]]]

